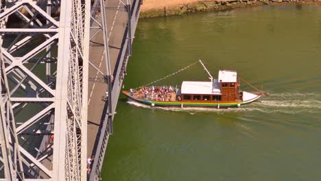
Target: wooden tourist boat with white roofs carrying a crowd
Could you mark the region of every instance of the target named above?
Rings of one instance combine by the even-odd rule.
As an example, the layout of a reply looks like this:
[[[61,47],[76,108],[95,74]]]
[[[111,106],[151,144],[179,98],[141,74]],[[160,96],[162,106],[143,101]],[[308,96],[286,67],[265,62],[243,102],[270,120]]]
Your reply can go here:
[[[204,64],[201,61],[200,63],[209,73]],[[256,101],[262,95],[267,95],[261,90],[259,90],[259,93],[241,91],[241,84],[236,71],[219,71],[218,79],[213,79],[211,73],[209,73],[209,76],[211,82],[184,81],[181,88],[174,86],[143,86],[137,90],[130,89],[122,93],[129,99],[141,104],[177,108],[240,107]]]

